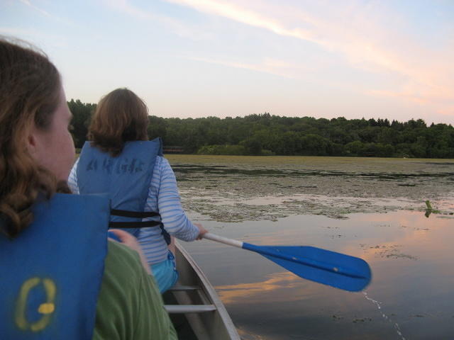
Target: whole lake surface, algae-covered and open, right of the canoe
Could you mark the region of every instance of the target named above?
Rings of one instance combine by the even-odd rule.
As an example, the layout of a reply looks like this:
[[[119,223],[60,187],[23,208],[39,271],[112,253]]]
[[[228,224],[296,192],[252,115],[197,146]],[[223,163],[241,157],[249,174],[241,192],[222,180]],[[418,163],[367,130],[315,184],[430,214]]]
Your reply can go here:
[[[454,339],[454,160],[167,158],[189,216],[214,234],[372,268],[365,291],[350,293],[250,251],[181,242],[243,339]]]

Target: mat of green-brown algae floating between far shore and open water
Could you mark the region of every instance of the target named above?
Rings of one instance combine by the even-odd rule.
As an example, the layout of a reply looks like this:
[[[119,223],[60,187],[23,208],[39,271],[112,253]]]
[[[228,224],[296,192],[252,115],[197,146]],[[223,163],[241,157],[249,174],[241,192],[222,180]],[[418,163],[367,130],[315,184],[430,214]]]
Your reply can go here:
[[[355,212],[426,212],[425,200],[437,210],[454,210],[454,160],[167,158],[177,176],[184,208],[218,222],[277,220],[289,215],[343,219]]]

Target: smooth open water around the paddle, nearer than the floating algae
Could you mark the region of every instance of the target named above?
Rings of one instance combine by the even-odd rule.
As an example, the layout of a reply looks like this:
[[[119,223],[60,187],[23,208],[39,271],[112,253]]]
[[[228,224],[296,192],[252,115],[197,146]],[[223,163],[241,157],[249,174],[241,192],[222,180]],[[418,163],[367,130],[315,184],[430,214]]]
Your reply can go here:
[[[249,251],[208,241],[185,246],[243,339],[452,339],[454,220],[403,210],[348,217],[204,223],[245,242],[304,244],[365,259],[374,274],[367,295],[302,280]]]

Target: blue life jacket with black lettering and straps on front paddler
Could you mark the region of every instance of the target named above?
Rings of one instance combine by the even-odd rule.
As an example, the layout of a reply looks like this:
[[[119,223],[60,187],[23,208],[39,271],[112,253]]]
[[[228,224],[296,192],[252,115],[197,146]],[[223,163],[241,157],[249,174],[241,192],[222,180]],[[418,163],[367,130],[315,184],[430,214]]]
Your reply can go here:
[[[112,157],[91,142],[85,142],[77,164],[79,193],[108,193],[111,198],[111,227],[128,228],[138,235],[138,228],[157,227],[167,244],[170,236],[162,226],[158,212],[144,212],[156,156],[162,156],[162,141],[126,142],[121,154]],[[142,222],[145,217],[150,217]]]

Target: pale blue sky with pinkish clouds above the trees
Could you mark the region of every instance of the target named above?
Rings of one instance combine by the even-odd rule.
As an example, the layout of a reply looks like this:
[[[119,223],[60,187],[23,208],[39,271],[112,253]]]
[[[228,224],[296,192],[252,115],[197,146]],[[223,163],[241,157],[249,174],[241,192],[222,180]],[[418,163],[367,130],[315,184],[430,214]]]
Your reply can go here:
[[[454,125],[454,0],[0,0],[0,35],[44,50],[68,100]]]

